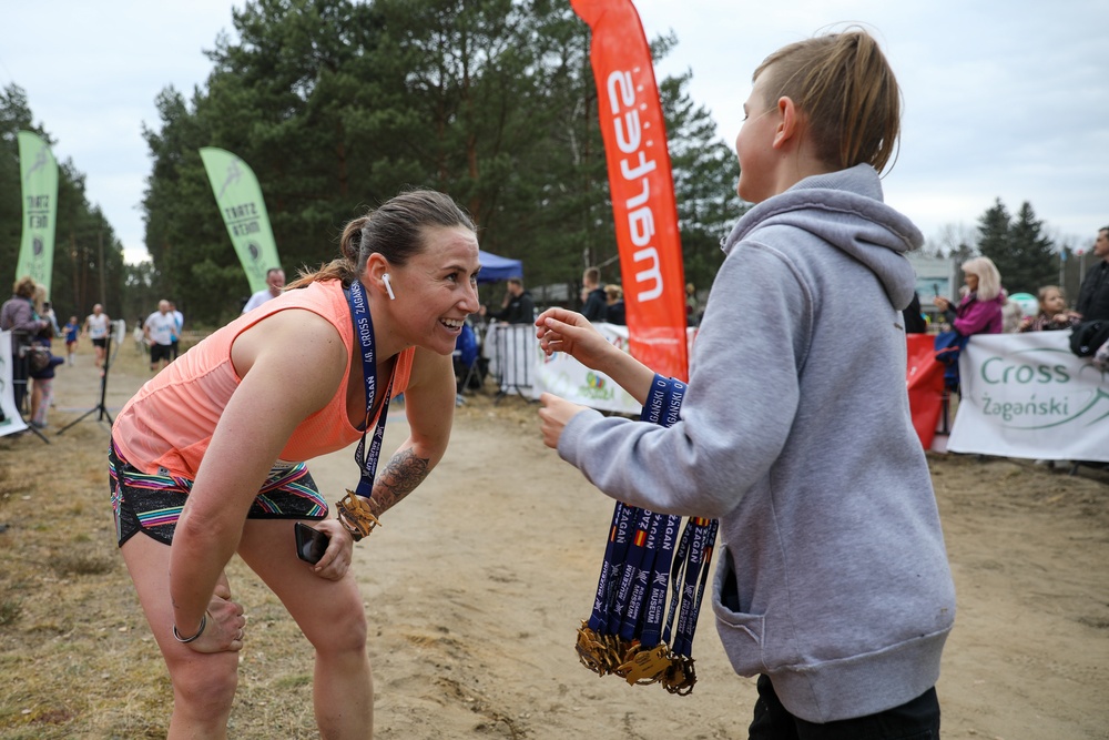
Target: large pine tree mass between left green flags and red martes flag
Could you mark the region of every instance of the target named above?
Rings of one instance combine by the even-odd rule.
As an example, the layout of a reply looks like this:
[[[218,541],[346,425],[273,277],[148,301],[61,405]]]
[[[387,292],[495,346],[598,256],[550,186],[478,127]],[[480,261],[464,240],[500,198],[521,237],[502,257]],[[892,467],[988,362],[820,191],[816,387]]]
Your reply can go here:
[[[247,293],[201,146],[254,170],[287,272],[330,260],[347,221],[410,186],[450,193],[532,284],[615,253],[588,28],[569,6],[266,0],[234,24],[206,89],[163,91],[145,132],[150,277],[193,321]]]

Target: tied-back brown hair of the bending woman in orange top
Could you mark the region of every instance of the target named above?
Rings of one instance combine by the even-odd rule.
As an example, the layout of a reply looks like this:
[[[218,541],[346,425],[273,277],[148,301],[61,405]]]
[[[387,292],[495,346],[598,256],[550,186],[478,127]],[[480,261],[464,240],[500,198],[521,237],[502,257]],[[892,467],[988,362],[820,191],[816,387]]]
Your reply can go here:
[[[426,229],[464,226],[477,233],[468,215],[449,195],[434,190],[413,190],[383,203],[376,211],[349,222],[339,239],[340,257],[315,272],[301,270],[286,290],[316,281],[340,280],[349,285],[366,270],[369,255],[381,254],[398,267],[426,247]]]

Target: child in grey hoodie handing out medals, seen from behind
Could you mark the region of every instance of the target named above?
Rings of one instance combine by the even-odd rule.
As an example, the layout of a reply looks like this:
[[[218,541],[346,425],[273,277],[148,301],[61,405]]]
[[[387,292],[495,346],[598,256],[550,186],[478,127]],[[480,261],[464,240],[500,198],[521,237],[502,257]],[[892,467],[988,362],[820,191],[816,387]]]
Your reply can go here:
[[[905,388],[901,311],[920,232],[882,202],[899,92],[864,31],[755,71],[740,195],[693,345],[681,419],[604,417],[545,394],[545,442],[609,496],[720,519],[713,610],[735,671],[760,676],[751,738],[938,738],[955,618],[932,480]],[[667,379],[580,315],[567,352],[641,403]]]

